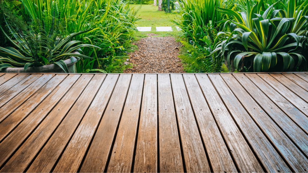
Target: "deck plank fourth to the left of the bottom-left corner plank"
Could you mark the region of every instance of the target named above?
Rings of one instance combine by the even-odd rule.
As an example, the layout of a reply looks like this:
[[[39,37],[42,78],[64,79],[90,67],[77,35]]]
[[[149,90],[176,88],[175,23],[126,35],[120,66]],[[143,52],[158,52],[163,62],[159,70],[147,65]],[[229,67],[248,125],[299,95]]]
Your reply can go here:
[[[34,75],[27,76],[21,82],[14,85],[12,88],[7,90],[6,92],[2,93],[2,95],[0,95],[0,106],[3,106],[5,103],[9,102],[16,95],[18,95],[22,90],[24,90],[26,87],[31,85],[31,83],[36,81],[41,76],[42,74],[34,74]]]

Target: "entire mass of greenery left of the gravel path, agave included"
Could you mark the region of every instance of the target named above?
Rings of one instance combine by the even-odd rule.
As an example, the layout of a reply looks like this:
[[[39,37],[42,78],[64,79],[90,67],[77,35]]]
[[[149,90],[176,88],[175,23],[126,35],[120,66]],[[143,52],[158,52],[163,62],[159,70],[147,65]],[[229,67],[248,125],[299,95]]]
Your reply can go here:
[[[71,56],[81,58],[77,72],[131,66],[118,63],[126,57],[123,46],[130,42],[138,20],[128,2],[2,0],[1,13],[1,32],[11,42],[10,48],[1,47],[2,68],[56,63],[66,70],[63,60]],[[77,50],[80,54],[72,54]],[[113,70],[108,72],[118,72]]]

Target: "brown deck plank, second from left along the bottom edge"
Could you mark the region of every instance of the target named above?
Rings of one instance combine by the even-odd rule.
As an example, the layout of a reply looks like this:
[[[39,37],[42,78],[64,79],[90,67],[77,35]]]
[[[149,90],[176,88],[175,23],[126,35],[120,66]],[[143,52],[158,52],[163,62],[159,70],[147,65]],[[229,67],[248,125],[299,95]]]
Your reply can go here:
[[[57,127],[57,130],[54,132],[48,142],[46,141],[47,143],[45,144],[44,148],[42,151],[40,151],[34,163],[31,165],[37,165],[35,167],[35,171],[38,171],[42,168],[44,169],[40,170],[40,172],[51,171],[55,162],[63,152],[65,146],[70,141],[71,136],[74,134],[75,129],[78,127],[79,122],[83,118],[83,115],[87,111],[88,106],[91,104],[105,77],[106,75],[95,75],[91,79],[91,82],[87,85],[82,95],[80,95],[79,99],[65,116],[59,127]],[[31,158],[31,160],[33,159],[34,158]],[[34,167],[28,171],[34,172],[34,170],[32,170],[33,168]]]

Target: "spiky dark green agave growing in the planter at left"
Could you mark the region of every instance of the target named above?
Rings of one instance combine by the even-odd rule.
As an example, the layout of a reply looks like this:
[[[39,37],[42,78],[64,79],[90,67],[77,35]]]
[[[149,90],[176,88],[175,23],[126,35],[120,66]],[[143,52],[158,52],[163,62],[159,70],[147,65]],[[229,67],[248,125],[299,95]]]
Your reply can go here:
[[[12,40],[2,29],[6,37],[19,49],[13,47],[0,47],[0,70],[7,67],[24,67],[27,70],[31,66],[43,66],[55,63],[60,66],[65,72],[68,68],[65,59],[75,56],[79,57],[81,61],[83,58],[91,58],[83,54],[75,54],[75,51],[82,47],[98,48],[90,44],[81,44],[81,41],[73,40],[75,36],[90,32],[91,30],[80,31],[77,33],[64,36],[64,28],[60,26],[56,18],[52,18],[51,26],[46,31],[46,27],[38,18],[33,20],[28,25],[24,25],[23,21],[10,13],[5,11],[6,15],[12,21],[5,18],[6,25],[15,40]],[[59,34],[59,30],[62,34]]]

